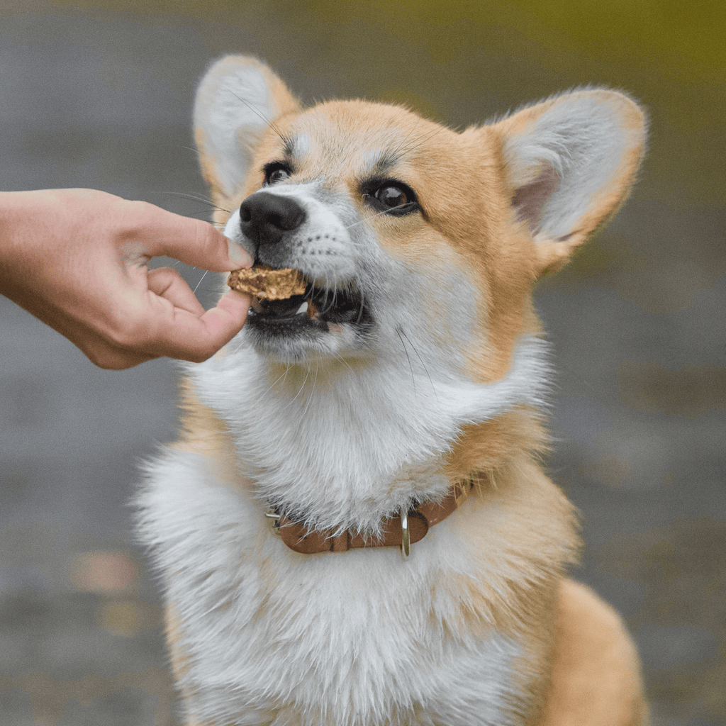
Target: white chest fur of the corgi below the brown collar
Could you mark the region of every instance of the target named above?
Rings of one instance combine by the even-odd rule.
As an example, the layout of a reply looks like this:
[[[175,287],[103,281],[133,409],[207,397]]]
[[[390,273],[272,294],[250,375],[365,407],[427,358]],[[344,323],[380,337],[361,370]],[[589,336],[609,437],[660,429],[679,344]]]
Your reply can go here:
[[[170,451],[150,475],[142,537],[183,624],[192,713],[225,724],[508,722],[517,643],[447,627],[462,610],[454,579],[473,570],[456,513],[408,561],[396,548],[299,555],[199,454]]]

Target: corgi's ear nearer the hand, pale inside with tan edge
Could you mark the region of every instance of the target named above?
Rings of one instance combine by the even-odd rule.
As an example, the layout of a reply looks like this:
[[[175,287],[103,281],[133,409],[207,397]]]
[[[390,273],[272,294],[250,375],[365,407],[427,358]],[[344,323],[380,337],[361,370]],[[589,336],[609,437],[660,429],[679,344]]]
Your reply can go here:
[[[244,184],[256,144],[275,118],[300,105],[266,65],[227,55],[202,78],[194,107],[202,175],[224,207]]]

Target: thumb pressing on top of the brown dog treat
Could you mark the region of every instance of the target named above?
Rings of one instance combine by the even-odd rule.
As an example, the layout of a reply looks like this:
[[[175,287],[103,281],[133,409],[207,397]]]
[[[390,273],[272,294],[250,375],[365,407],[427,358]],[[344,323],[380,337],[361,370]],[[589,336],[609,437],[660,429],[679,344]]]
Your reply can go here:
[[[252,266],[250,253],[208,222],[148,206],[151,209],[141,230],[147,255],[166,255],[210,272]]]

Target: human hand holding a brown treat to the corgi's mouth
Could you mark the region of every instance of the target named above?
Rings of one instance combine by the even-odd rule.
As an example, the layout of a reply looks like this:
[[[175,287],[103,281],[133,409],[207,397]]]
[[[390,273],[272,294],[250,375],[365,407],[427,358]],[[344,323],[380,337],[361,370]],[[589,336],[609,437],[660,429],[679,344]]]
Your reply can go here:
[[[229,245],[211,224],[106,192],[0,193],[0,293],[102,368],[201,362],[231,340],[250,295],[229,290],[205,311],[178,272],[147,269],[162,255],[212,272],[252,264]]]

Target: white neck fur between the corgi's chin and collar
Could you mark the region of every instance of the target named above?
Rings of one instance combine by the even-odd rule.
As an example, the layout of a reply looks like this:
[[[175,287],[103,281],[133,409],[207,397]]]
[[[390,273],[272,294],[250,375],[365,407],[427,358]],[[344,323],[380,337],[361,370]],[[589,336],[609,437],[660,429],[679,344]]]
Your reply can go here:
[[[316,362],[291,366],[295,388],[246,346],[192,376],[258,497],[307,529],[378,537],[392,514],[446,497],[446,456],[463,425],[541,402],[542,346],[522,340],[505,378],[486,385],[379,360],[335,380]]]

